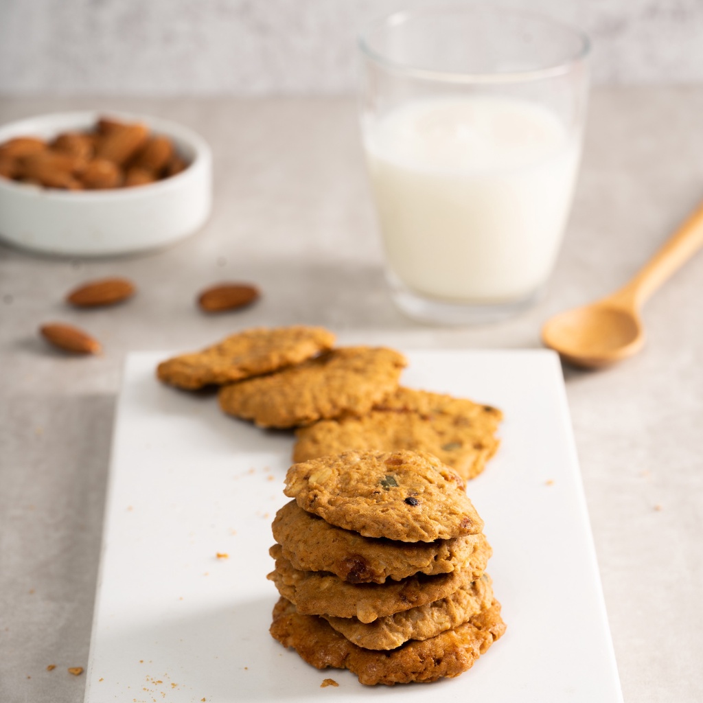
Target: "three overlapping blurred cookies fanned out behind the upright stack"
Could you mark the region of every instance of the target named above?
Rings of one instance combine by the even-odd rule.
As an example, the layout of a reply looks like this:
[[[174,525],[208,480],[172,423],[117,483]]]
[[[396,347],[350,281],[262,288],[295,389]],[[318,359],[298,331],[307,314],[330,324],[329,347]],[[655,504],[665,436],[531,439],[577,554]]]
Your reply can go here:
[[[341,347],[328,330],[256,328],[161,363],[159,378],[220,385],[228,414],[259,427],[297,428],[293,460],[352,449],[426,451],[467,481],[498,449],[491,406],[399,387],[406,359],[393,349]]]

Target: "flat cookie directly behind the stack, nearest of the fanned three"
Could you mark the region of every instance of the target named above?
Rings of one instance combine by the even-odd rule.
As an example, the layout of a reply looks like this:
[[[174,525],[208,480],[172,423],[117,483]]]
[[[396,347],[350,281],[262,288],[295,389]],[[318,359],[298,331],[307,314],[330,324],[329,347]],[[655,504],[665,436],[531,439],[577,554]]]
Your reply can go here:
[[[434,454],[468,480],[477,477],[496,453],[502,417],[492,406],[399,388],[368,415],[343,415],[297,430],[293,461],[350,449],[413,449]]]

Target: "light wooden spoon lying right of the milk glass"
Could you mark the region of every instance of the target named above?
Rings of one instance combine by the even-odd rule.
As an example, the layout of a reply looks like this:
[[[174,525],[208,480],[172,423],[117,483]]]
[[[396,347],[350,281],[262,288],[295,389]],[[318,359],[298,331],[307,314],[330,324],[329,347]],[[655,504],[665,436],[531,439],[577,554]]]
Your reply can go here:
[[[542,340],[576,366],[602,368],[636,354],[645,342],[640,307],[703,246],[703,204],[623,288],[550,318]]]

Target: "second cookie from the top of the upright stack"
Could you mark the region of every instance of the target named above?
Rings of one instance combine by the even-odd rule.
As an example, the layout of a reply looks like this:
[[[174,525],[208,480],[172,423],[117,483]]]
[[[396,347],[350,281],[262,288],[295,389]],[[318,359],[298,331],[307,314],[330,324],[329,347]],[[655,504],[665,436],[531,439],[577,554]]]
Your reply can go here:
[[[295,501],[278,510],[272,529],[283,556],[295,569],[332,572],[350,583],[383,583],[417,573],[433,576],[464,568],[482,571],[486,567],[487,541],[483,534],[434,542],[363,537],[302,510]]]

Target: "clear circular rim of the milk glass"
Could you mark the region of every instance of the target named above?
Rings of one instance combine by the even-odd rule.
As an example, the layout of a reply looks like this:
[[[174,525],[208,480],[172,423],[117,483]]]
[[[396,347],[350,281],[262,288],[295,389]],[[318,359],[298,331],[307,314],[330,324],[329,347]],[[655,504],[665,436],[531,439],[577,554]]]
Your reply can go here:
[[[524,18],[526,20],[542,22],[545,25],[559,27],[561,30],[570,32],[574,35],[574,37],[579,39],[580,46],[572,56],[567,56],[565,60],[553,63],[552,65],[541,68],[511,70],[505,72],[459,72],[423,68],[422,66],[398,63],[397,61],[390,60],[382,53],[372,49],[370,46],[368,37],[373,30],[384,26],[392,29],[392,27],[401,25],[402,23],[407,22],[418,15],[434,14],[438,11],[447,10],[459,10],[462,12],[483,11],[493,15],[511,15],[516,18]],[[567,22],[555,20],[548,15],[543,15],[538,12],[515,10],[513,8],[503,6],[489,6],[486,4],[459,5],[456,3],[451,3],[432,7],[408,8],[407,10],[395,11],[389,15],[385,15],[383,18],[369,22],[366,27],[363,27],[357,35],[357,45],[362,54],[387,70],[404,73],[410,77],[425,80],[467,84],[517,83],[557,77],[569,73],[569,71],[573,70],[574,66],[586,60],[588,55],[591,53],[591,39],[588,38],[588,34],[573,25],[569,25]]]

